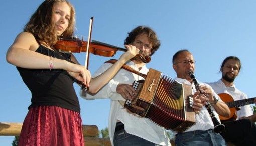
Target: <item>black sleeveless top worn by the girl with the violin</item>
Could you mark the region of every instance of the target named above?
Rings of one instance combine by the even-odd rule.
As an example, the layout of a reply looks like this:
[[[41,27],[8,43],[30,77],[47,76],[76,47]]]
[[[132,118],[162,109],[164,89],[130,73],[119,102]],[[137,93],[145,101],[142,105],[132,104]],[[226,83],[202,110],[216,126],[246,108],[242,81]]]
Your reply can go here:
[[[71,54],[59,53],[42,45],[36,52],[71,62]],[[79,100],[73,87],[75,79],[67,71],[21,67],[17,67],[17,70],[32,93],[29,109],[35,106],[58,106],[80,113]]]

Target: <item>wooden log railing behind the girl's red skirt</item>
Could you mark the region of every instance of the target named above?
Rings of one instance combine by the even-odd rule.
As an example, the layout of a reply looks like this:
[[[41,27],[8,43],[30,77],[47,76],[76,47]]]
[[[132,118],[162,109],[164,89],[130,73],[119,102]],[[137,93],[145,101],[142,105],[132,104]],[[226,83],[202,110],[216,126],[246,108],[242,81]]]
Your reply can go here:
[[[22,123],[0,122],[0,136],[19,136]],[[83,125],[83,136],[85,145],[88,146],[111,146],[109,138],[98,138],[98,127],[96,125]]]

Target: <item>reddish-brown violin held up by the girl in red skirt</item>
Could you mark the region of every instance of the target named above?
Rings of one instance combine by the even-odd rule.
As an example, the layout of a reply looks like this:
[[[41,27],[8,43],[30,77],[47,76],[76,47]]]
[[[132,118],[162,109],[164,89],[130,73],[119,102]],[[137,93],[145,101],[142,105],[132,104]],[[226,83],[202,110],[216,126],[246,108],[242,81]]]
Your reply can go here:
[[[84,41],[83,39],[81,40],[77,37],[61,37],[54,45],[54,48],[62,53],[81,53],[86,52],[87,44],[87,41]],[[112,57],[116,54],[116,51],[118,50],[124,52],[127,51],[127,49],[99,42],[96,40],[92,40],[89,47],[89,53],[104,57]],[[151,61],[150,56],[144,57],[141,53],[138,53],[136,56],[139,57],[144,63],[149,63]]]

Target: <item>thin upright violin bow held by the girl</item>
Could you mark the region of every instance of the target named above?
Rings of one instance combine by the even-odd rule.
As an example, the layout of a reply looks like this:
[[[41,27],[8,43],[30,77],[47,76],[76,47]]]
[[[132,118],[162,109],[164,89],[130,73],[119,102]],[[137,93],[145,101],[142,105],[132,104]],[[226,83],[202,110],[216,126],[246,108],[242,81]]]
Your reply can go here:
[[[84,63],[84,66],[87,70],[88,70],[88,67],[89,67],[89,54],[90,54],[89,49],[90,49],[90,44],[91,44],[92,24],[93,24],[93,17],[91,17],[91,19],[90,19],[89,35],[88,35],[87,48],[86,48],[86,57],[85,57],[85,63]],[[81,90],[86,91],[87,87],[83,84],[82,87],[81,87]]]

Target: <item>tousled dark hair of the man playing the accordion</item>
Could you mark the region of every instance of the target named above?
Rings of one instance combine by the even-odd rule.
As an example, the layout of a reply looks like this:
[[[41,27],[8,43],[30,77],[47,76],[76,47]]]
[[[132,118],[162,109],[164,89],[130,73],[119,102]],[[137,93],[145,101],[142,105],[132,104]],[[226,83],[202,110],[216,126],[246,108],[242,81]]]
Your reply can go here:
[[[157,38],[157,34],[150,28],[147,26],[138,26],[135,29],[133,29],[131,32],[128,33],[127,38],[124,40],[124,44],[132,44],[136,38],[136,36],[140,35],[140,34],[147,34],[150,41],[152,42],[152,49],[151,49],[151,54],[150,56],[152,56],[155,51],[157,51],[161,45],[160,40],[158,40]]]

